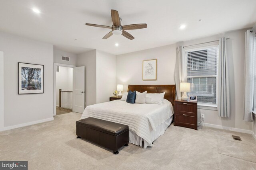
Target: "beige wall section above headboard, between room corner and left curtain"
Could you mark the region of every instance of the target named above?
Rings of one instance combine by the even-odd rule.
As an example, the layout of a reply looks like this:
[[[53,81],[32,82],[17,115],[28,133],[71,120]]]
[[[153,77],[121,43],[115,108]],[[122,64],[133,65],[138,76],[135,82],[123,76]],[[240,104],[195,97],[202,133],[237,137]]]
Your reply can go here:
[[[142,61],[157,59],[157,80],[142,80]],[[116,57],[116,83],[124,84],[174,84],[176,46],[167,45]]]

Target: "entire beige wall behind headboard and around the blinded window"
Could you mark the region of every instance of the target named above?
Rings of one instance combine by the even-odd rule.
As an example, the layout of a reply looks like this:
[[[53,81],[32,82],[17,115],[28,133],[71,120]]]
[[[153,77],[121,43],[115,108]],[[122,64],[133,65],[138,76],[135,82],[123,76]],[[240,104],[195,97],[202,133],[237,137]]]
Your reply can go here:
[[[124,84],[125,91],[128,84],[174,84],[174,66],[176,61],[176,46],[184,46],[197,43],[205,43],[218,40],[225,36],[230,38],[226,41],[229,81],[231,90],[231,116],[230,118],[218,117],[216,110],[198,109],[200,113],[205,114],[204,123],[232,127],[238,129],[252,130],[252,122],[243,120],[243,95],[244,95],[244,32],[247,29],[229,31],[223,34],[204,37],[191,41],[176,43],[176,45],[167,45],[154,49],[118,55],[116,59],[116,83]],[[147,59],[157,59],[157,80],[142,80],[142,61]]]

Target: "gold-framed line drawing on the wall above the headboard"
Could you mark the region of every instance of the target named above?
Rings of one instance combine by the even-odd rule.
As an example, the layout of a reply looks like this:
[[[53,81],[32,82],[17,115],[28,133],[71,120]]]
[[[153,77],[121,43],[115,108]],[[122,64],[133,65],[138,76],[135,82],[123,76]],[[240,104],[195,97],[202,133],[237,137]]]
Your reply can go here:
[[[156,59],[143,61],[142,79],[143,80],[156,80]]]

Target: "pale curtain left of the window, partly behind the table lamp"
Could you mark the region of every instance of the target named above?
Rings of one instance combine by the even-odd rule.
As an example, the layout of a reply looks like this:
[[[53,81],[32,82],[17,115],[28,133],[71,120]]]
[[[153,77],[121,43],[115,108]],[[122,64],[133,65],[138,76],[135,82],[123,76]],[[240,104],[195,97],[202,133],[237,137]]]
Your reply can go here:
[[[176,85],[176,99],[181,99],[181,92],[180,92],[180,83],[186,82],[184,81],[184,75],[185,75],[185,64],[184,64],[184,49],[183,45],[179,46],[176,49],[176,63],[175,63],[175,69],[174,69],[174,82]]]

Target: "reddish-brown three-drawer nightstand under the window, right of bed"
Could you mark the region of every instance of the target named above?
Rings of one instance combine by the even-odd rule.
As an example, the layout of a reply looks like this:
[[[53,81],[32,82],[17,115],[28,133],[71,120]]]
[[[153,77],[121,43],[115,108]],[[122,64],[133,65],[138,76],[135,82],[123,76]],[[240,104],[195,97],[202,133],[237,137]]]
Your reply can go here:
[[[189,127],[197,130],[196,101],[174,101],[174,126]]]

